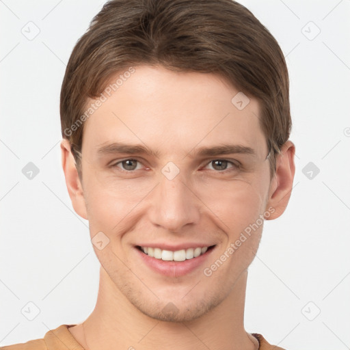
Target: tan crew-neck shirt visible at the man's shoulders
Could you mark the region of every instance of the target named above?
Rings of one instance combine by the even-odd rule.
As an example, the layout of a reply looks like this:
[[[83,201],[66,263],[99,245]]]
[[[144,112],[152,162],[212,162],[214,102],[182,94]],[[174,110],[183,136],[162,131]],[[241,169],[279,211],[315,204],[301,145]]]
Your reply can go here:
[[[46,332],[42,339],[0,347],[0,350],[85,350],[68,331],[68,328],[73,326],[75,325],[60,325]],[[284,350],[269,344],[261,334],[252,333],[252,336],[258,339],[259,350]]]

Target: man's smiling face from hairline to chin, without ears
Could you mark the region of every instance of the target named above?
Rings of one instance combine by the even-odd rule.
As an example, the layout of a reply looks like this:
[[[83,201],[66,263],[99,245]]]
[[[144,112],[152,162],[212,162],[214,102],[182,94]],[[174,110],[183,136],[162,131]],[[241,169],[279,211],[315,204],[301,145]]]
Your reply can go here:
[[[238,93],[217,75],[137,66],[85,122],[84,215],[103,237],[94,250],[113,288],[155,319],[221,303],[275,210],[259,105],[237,108]]]

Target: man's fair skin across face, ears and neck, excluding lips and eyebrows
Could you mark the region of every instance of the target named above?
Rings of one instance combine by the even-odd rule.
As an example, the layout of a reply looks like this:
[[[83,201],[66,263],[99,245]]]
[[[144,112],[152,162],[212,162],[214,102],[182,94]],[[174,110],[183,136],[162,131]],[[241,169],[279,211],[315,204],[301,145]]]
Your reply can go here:
[[[250,98],[240,111],[231,103],[238,92],[217,75],[137,66],[85,122],[82,180],[69,143],[62,141],[72,205],[89,220],[91,238],[101,231],[109,238],[103,250],[94,246],[101,264],[96,307],[83,324],[69,328],[86,349],[258,348],[243,319],[247,268],[262,225],[211,276],[203,270],[259,215],[269,212],[266,219],[275,219],[284,212],[295,146],[291,141],[282,146],[271,178],[258,101]],[[146,145],[159,155],[98,155],[109,142]],[[196,155],[202,146],[226,143],[249,146],[255,155]],[[131,163],[132,174],[126,174],[130,166],[118,163],[126,159],[138,161]],[[220,170],[216,159],[241,166],[224,163]],[[172,180],[161,172],[169,161],[180,170]],[[190,241],[215,244],[215,250],[178,277],[153,271],[135,251],[140,242]],[[169,303],[176,306],[173,314],[163,310]]]

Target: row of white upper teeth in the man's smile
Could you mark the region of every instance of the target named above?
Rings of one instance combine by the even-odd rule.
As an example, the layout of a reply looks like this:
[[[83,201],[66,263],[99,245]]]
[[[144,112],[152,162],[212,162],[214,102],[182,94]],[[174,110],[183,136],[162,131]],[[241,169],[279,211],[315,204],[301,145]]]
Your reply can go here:
[[[152,258],[164,261],[184,261],[197,258],[201,254],[204,254],[208,250],[208,247],[188,248],[186,250],[176,250],[176,252],[153,247],[141,247],[141,249],[145,254],[148,254],[148,256],[151,256]]]

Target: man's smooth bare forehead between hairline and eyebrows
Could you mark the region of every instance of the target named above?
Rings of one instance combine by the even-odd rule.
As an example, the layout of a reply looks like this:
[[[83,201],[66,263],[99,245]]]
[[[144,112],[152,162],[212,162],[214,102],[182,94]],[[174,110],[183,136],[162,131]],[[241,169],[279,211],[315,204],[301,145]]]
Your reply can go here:
[[[101,144],[127,142],[169,155],[218,144],[266,152],[258,101],[219,75],[161,66],[134,69],[111,79],[103,103],[85,121],[83,149],[96,152]],[[94,103],[88,100],[87,107]]]

